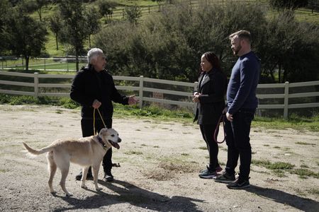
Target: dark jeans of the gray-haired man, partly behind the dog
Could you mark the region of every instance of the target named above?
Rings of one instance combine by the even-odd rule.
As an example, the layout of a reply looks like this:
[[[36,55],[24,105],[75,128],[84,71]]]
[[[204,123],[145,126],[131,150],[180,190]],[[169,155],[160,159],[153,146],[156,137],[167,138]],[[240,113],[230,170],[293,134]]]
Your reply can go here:
[[[104,119],[107,128],[112,128],[112,119]],[[81,119],[82,136],[93,136],[93,119]],[[104,128],[103,122],[100,119],[95,120],[95,130],[97,133]],[[112,169],[112,148],[108,149],[103,157],[103,170],[104,172],[111,172]]]

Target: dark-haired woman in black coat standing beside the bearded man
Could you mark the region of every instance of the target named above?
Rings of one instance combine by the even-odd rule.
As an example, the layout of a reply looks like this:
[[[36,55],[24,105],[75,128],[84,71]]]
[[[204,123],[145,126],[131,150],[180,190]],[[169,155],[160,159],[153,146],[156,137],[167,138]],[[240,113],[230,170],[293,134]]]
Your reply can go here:
[[[194,122],[197,120],[203,140],[209,153],[209,165],[199,173],[201,178],[216,177],[222,168],[218,163],[218,144],[213,139],[218,120],[225,108],[225,93],[227,78],[220,69],[219,60],[213,52],[206,52],[201,56],[198,87],[194,92],[193,102],[197,102]]]

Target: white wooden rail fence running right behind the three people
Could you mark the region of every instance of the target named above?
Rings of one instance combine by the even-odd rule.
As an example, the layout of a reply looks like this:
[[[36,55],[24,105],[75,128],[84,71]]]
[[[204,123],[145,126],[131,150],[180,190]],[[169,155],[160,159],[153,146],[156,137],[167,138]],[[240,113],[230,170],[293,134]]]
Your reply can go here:
[[[9,85],[9,86],[24,86],[24,87],[33,87],[33,92],[30,91],[20,91],[20,90],[5,90],[0,89],[0,93],[6,94],[13,94],[13,95],[33,95],[35,97],[39,96],[55,96],[55,97],[69,97],[69,93],[47,93],[47,92],[40,92],[39,88],[71,88],[71,83],[39,83],[40,78],[65,78],[65,79],[72,79],[74,75],[66,75],[66,74],[39,74],[39,73],[16,73],[16,72],[7,72],[7,71],[0,71],[0,76],[20,76],[20,77],[27,77],[33,78],[33,83],[26,83],[21,81],[4,81],[0,80],[1,85]],[[169,104],[169,105],[179,105],[181,107],[193,107],[194,102],[191,102],[191,95],[193,94],[192,91],[196,89],[197,82],[194,83],[186,83],[180,81],[168,81],[168,80],[159,80],[155,78],[145,78],[143,76],[140,77],[133,77],[133,76],[113,76],[115,81],[133,81],[138,82],[139,86],[116,86],[118,90],[131,90],[138,92],[137,98],[140,100],[140,107],[144,101],[146,102],[158,102],[162,104]],[[186,87],[183,90],[189,90],[187,92],[184,91],[177,91],[177,90],[168,90],[168,89],[158,89],[158,88],[150,88],[145,86],[145,83],[159,83],[165,85],[173,85],[173,86],[181,86]],[[259,84],[257,88],[266,88],[266,89],[274,89],[274,88],[281,88],[284,89],[284,93],[270,93],[270,94],[262,94],[257,92],[257,97],[259,100],[264,99],[284,99],[284,104],[266,104],[262,105],[259,104],[258,109],[282,109],[284,110],[284,118],[288,117],[289,109],[295,108],[312,108],[312,107],[319,107],[319,102],[308,102],[308,103],[301,103],[301,104],[289,104],[289,98],[309,98],[315,97],[319,98],[319,92],[313,89],[311,92],[307,93],[289,93],[289,88],[296,88],[296,87],[306,87],[306,86],[319,86],[319,81],[310,81],[305,83],[279,83],[279,84]],[[318,90],[318,89],[317,89]],[[164,98],[150,98],[143,96],[144,92],[150,93],[159,93],[159,94],[169,94],[169,95],[177,95],[181,96],[187,100],[167,100]],[[265,92],[267,93],[267,92]]]

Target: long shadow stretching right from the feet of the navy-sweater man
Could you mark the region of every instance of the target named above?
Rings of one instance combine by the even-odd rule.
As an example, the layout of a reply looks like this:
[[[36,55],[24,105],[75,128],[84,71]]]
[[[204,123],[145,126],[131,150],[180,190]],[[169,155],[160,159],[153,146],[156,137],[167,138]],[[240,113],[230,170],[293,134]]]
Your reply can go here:
[[[288,194],[276,189],[267,189],[250,185],[250,188],[246,189],[247,192],[257,194],[258,196],[264,196],[268,199],[272,199],[281,204],[298,208],[301,211],[318,212],[319,202],[313,199],[307,199],[293,194]]]

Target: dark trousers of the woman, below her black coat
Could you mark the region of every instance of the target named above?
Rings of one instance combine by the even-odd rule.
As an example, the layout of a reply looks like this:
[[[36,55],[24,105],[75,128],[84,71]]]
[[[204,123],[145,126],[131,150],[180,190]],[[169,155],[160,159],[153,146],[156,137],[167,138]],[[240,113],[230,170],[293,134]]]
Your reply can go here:
[[[214,141],[213,135],[216,129],[214,124],[199,124],[199,129],[201,129],[201,135],[206,142],[208,153],[209,153],[209,168],[211,171],[215,171],[216,167],[219,166],[218,163],[218,144]]]

